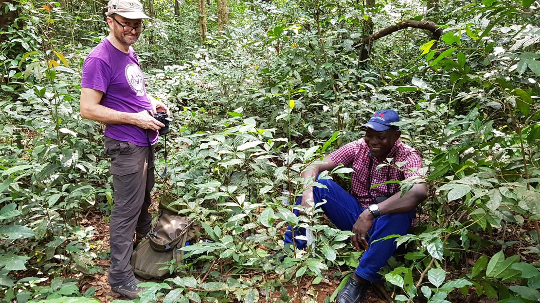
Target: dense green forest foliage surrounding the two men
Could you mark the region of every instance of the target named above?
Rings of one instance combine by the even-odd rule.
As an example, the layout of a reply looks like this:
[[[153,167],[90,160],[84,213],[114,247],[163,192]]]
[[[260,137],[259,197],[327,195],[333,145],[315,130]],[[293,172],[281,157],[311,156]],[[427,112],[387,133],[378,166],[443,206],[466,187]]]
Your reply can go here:
[[[156,20],[134,49],[174,118],[156,203],[183,205],[208,241],[164,265],[173,278],[149,281],[140,302],[332,301],[361,253],[289,203],[307,163],[388,107],[423,154],[430,195],[372,301],[540,299],[538,1],[229,0],[219,32],[208,0],[206,37],[197,2],[144,4]],[[10,0],[0,16],[0,301],[111,300],[94,283],[112,208],[103,128],[78,110],[103,3]],[[440,39],[409,27],[362,43],[406,20],[434,22]],[[328,175],[347,187],[349,173]],[[314,245],[276,264],[266,256],[289,223]]]

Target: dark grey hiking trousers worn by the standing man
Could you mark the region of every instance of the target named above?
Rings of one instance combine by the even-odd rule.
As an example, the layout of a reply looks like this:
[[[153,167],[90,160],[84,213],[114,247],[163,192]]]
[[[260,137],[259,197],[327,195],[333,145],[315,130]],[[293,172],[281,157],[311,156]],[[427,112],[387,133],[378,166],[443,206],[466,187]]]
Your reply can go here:
[[[114,188],[109,283],[116,286],[135,278],[130,265],[134,232],[147,233],[151,228],[148,208],[154,187],[154,148],[105,137],[105,154],[111,157]]]

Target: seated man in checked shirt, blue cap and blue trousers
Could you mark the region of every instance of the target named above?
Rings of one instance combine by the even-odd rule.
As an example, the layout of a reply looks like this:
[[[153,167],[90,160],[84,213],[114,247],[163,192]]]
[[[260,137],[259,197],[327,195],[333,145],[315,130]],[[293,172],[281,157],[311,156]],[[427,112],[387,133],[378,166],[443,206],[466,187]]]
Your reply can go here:
[[[338,294],[339,303],[361,302],[370,282],[381,280],[378,273],[386,265],[388,258],[396,250],[394,239],[373,243],[389,235],[406,235],[413,221],[417,206],[427,198],[427,185],[415,184],[401,196],[399,183],[387,183],[390,180],[405,180],[419,175],[422,167],[420,153],[399,141],[401,132],[392,122],[399,121],[396,112],[386,109],[376,112],[369,121],[362,125],[366,131],[363,139],[350,142],[330,155],[326,155],[323,164],[315,164],[303,171],[302,177],[315,180],[320,171],[332,170],[342,163],[354,169],[350,193],[331,180],[319,180],[327,188],[306,187],[297,204],[309,206],[308,200],[315,203],[326,200],[321,208],[326,216],[341,230],[352,230],[353,245],[357,251],[365,249],[353,276]],[[377,170],[379,164],[389,166]],[[405,162],[401,167],[396,163]],[[375,184],[379,185],[372,188]],[[298,213],[296,213],[298,215]],[[305,235],[303,228],[289,226],[285,233],[286,244],[293,244],[295,236]],[[296,247],[303,249],[306,241],[294,239]]]

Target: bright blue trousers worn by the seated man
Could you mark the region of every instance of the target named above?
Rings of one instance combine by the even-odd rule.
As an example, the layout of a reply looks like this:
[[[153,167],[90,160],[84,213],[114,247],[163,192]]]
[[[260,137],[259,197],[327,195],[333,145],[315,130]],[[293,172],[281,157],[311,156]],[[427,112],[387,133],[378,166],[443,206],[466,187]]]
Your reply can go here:
[[[334,181],[319,180],[317,182],[326,185],[327,188],[313,187],[314,202],[320,203],[325,199],[327,201],[326,204],[320,207],[325,211],[330,221],[341,230],[352,230],[356,219],[366,208],[363,208],[355,197]],[[296,205],[300,204],[300,202],[302,202],[301,196],[298,198]],[[415,212],[415,210],[411,210],[398,214],[382,215],[373,220],[373,225],[368,231],[369,249],[362,254],[360,264],[355,270],[358,276],[373,282],[381,280],[382,276],[379,274],[379,271],[396,251],[396,243],[395,239],[379,241],[373,244],[372,242],[389,235],[407,235]],[[298,210],[294,210],[294,214],[298,216]],[[294,229],[294,236],[300,235],[306,235],[305,228]],[[288,226],[285,232],[284,242],[285,244],[293,244],[292,226]],[[305,240],[295,238],[294,243],[299,249],[306,247]]]

